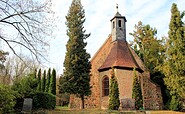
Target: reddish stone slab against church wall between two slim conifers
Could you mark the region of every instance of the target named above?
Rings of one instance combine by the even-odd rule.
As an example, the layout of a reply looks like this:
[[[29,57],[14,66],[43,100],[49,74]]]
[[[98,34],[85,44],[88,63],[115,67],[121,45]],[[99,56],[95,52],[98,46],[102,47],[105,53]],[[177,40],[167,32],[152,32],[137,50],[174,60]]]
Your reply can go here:
[[[135,109],[135,99],[121,99],[121,105],[123,109]]]

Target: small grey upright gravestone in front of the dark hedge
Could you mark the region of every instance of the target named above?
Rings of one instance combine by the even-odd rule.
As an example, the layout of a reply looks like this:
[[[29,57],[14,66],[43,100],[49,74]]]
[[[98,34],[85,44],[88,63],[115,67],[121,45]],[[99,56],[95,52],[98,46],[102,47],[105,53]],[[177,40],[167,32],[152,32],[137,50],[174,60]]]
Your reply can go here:
[[[22,112],[31,112],[32,110],[32,98],[24,98]]]

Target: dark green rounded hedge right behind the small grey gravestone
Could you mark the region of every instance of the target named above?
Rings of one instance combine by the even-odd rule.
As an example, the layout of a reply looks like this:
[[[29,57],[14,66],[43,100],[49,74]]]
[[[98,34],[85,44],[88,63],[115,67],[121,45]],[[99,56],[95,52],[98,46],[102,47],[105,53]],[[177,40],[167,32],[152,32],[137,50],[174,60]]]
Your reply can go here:
[[[56,97],[51,93],[35,92],[30,96],[33,99],[33,109],[54,109]]]

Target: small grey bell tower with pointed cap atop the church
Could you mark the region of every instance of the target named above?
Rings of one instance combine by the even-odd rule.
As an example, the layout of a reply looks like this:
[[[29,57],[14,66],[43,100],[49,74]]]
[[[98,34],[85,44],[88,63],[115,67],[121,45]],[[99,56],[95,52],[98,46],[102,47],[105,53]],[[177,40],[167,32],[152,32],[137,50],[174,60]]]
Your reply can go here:
[[[111,21],[111,34],[112,42],[117,40],[123,40],[126,42],[126,18],[118,12],[118,5],[116,6],[116,15],[110,20]]]

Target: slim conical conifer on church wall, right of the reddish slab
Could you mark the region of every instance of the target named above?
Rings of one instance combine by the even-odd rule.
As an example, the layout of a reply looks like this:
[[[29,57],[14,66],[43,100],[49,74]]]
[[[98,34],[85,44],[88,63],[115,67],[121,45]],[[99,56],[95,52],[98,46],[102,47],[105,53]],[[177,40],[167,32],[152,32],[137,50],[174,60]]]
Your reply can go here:
[[[135,108],[138,110],[143,107],[143,97],[141,92],[140,79],[136,74],[136,69],[134,68],[134,81],[132,87],[132,98],[135,99]]]

